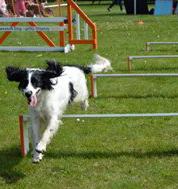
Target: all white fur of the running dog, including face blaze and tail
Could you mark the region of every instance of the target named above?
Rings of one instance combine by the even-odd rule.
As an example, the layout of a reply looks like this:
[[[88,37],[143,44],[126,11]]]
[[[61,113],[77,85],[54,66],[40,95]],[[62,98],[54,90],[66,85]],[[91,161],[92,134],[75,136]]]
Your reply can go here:
[[[95,56],[94,61],[89,66],[92,73],[112,69],[110,61],[99,55]],[[32,69],[28,70],[33,71]],[[84,72],[72,66],[64,66],[63,70],[63,73],[59,77],[51,79],[51,82],[54,84],[53,90],[34,88],[31,83],[32,74],[31,72],[28,74],[29,83],[23,92],[31,91],[32,96],[35,96],[32,100],[34,104],[32,103],[29,106],[33,141],[36,146],[33,151],[33,162],[39,162],[42,159],[42,152],[46,151],[47,145],[61,124],[63,112],[67,108],[71,97],[69,83],[73,84],[73,88],[77,93],[73,101],[80,102],[84,110],[89,106],[88,89]],[[42,135],[40,135],[41,127],[44,128]]]

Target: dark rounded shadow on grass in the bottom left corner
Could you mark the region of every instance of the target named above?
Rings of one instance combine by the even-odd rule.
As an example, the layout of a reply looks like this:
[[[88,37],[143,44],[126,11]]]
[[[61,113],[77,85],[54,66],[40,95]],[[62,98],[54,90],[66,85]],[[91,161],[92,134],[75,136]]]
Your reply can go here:
[[[13,184],[24,178],[25,175],[15,168],[21,160],[17,147],[0,150],[0,179],[7,184]]]

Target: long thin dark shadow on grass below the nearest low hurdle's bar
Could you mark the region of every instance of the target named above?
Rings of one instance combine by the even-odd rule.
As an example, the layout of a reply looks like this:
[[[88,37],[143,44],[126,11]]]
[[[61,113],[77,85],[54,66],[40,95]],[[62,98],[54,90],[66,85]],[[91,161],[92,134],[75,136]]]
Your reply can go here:
[[[178,149],[165,150],[165,151],[130,151],[130,152],[113,152],[113,151],[83,151],[83,152],[70,152],[70,151],[58,151],[48,152],[45,158],[81,158],[81,159],[116,159],[120,157],[134,157],[134,158],[167,158],[172,156],[178,156]]]

